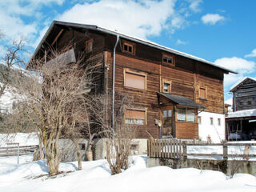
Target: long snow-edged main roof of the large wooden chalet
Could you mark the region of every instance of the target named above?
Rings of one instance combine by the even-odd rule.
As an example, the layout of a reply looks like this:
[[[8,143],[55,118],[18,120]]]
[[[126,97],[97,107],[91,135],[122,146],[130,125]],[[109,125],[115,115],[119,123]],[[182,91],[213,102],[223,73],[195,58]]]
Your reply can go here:
[[[206,61],[203,58],[198,58],[198,57],[196,57],[194,55],[191,55],[191,54],[186,54],[186,53],[178,51],[178,50],[170,49],[169,47],[158,45],[155,42],[146,41],[146,40],[143,40],[143,39],[140,39],[140,38],[134,38],[134,37],[131,37],[129,35],[121,34],[121,33],[118,33],[116,31],[113,31],[113,30],[104,29],[104,28],[99,27],[99,26],[78,24],[78,23],[73,23],[73,22],[60,22],[60,21],[54,21],[54,22],[51,23],[49,29],[46,31],[46,34],[44,35],[41,42],[38,44],[38,47],[34,51],[33,56],[30,58],[30,61],[38,53],[38,50],[40,50],[40,48],[42,46],[42,43],[46,40],[47,36],[50,34],[50,31],[56,25],[58,25],[58,26],[69,26],[69,27],[75,27],[75,28],[83,28],[83,29],[89,29],[89,30],[98,30],[98,31],[101,31],[102,33],[106,33],[106,34],[119,35],[120,38],[126,38],[127,40],[130,40],[130,41],[133,41],[133,42],[142,43],[142,44],[145,44],[146,46],[152,46],[152,47],[154,47],[158,50],[164,50],[164,51],[169,52],[171,54],[178,54],[178,55],[181,55],[185,58],[190,58],[190,59],[196,60],[198,62],[203,62],[203,63],[206,63],[210,66],[217,67],[218,69],[225,70],[227,73],[230,72],[230,73],[237,74],[237,72],[235,72],[233,70],[226,69],[225,67],[222,67],[222,66],[217,66],[213,62]]]

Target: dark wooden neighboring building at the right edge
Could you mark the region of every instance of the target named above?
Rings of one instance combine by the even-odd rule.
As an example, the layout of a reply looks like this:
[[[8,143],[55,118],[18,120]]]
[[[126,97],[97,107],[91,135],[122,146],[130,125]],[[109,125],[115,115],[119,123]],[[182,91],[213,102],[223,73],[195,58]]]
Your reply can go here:
[[[243,78],[230,93],[233,94],[233,112],[226,117],[226,139],[256,139],[256,79]]]

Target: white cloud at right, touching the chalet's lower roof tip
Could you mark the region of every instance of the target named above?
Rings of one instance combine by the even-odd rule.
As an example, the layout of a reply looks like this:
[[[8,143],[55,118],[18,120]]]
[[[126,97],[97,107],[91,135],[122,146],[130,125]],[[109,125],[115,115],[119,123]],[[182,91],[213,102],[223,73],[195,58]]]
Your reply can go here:
[[[216,65],[225,67],[229,70],[234,70],[238,74],[225,74],[224,86],[228,87],[233,85],[235,82],[240,81],[245,75],[254,72],[255,62],[247,61],[244,58],[218,58],[215,62]]]

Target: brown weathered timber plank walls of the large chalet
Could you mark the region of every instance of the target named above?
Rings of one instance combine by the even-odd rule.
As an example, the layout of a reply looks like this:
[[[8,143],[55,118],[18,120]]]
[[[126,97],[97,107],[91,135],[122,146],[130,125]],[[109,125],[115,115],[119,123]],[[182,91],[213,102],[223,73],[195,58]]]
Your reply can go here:
[[[111,93],[113,53],[117,39],[117,34],[97,30],[95,26],[54,22],[35,51],[34,58],[43,57],[46,48],[42,48],[42,45],[51,45],[57,50],[71,45],[77,56],[85,53],[88,62],[97,65],[98,76],[94,78],[93,89],[97,93]],[[197,106],[179,106],[167,98],[162,98],[166,102],[161,104],[158,93],[179,95],[204,106],[204,111],[224,114],[223,74],[228,74],[229,70],[124,35],[118,39],[115,51],[114,91],[129,95],[137,110],[146,111],[145,123],[138,125],[138,138],[148,138],[146,130],[154,138],[162,137],[163,134],[172,134],[176,138],[198,138],[198,111],[202,109]],[[132,74],[138,75],[138,79],[141,79],[139,83],[143,80],[145,85],[126,84],[126,78],[132,77]],[[205,89],[206,97],[199,97],[200,89]],[[115,100],[118,103],[118,98]],[[194,122],[178,121],[178,107],[191,109],[190,115],[194,115]],[[166,113],[164,110],[171,113],[170,119],[167,119],[170,122],[163,119],[163,113]],[[161,126],[156,125],[156,120],[162,122]]]

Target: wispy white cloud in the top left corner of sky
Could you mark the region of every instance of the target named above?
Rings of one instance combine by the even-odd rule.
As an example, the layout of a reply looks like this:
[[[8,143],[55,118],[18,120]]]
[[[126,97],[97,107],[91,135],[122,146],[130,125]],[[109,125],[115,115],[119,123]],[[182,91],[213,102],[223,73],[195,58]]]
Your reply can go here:
[[[38,32],[42,6],[62,5],[65,0],[8,0],[0,1],[0,30],[6,39],[33,39]],[[32,18],[33,22],[28,22]]]

